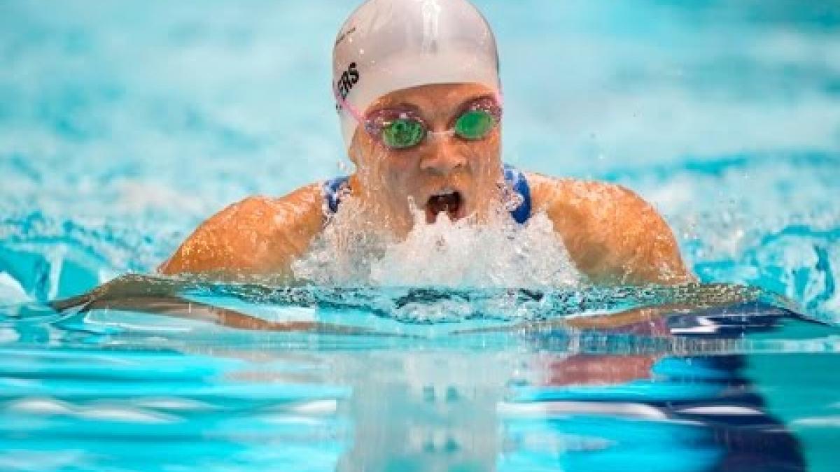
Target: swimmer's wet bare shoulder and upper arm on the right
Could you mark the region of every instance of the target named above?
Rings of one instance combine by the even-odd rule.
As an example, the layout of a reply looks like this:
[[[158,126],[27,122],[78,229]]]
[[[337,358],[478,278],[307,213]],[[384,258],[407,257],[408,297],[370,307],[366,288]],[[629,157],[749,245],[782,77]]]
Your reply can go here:
[[[673,285],[696,281],[674,233],[654,207],[622,186],[528,177],[577,268],[594,283]]]

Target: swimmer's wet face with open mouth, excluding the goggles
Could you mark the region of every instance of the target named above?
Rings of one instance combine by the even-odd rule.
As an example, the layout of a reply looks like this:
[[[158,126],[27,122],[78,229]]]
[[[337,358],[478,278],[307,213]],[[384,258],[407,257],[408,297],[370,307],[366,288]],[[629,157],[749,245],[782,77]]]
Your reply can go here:
[[[478,84],[436,84],[391,92],[373,102],[365,117],[407,111],[428,130],[452,129],[476,103],[496,105],[493,91]],[[434,223],[445,212],[452,220],[483,221],[498,207],[501,181],[501,126],[482,139],[431,135],[407,149],[392,149],[381,136],[357,128],[349,149],[363,200],[384,212],[393,228],[412,227],[409,202]],[[383,222],[384,223],[384,222]]]

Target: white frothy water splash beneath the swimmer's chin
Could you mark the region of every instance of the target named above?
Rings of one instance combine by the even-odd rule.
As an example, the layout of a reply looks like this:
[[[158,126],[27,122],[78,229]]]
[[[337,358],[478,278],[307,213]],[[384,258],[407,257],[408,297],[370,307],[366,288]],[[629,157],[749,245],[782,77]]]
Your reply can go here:
[[[398,240],[381,223],[364,222],[352,199],[342,204],[312,250],[292,267],[295,275],[319,286],[444,286],[574,288],[575,270],[549,218],[538,213],[517,226],[507,213],[475,224],[433,224],[412,208],[415,223]]]

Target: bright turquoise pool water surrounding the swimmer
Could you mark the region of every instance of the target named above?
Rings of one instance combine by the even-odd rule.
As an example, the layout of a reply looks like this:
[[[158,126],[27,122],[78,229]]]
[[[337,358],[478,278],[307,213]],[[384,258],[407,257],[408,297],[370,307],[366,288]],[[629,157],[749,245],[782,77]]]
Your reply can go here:
[[[370,287],[188,295],[376,335],[52,312],[229,202],[344,173],[328,58],[353,5],[4,2],[0,469],[832,469],[840,8],[477,3],[508,162],[632,187],[703,281],[828,324],[762,303],[476,332],[651,295]]]

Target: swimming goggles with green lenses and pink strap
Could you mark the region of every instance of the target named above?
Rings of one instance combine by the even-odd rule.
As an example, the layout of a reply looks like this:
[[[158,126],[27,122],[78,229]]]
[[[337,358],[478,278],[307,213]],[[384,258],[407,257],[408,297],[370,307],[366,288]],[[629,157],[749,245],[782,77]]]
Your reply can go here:
[[[340,104],[349,105],[346,102]],[[479,141],[489,136],[501,122],[501,107],[492,97],[469,102],[455,118],[452,128],[446,131],[429,130],[428,123],[413,110],[385,108],[375,110],[367,117],[362,117],[355,110],[350,111],[373,139],[390,149],[409,149],[431,137],[451,138],[457,135],[466,141]]]

